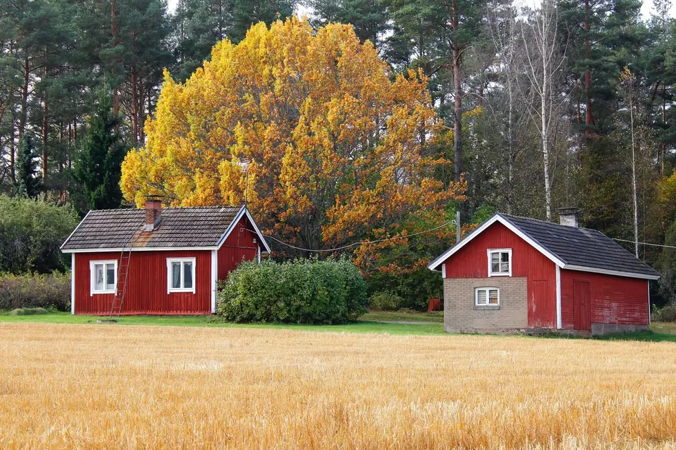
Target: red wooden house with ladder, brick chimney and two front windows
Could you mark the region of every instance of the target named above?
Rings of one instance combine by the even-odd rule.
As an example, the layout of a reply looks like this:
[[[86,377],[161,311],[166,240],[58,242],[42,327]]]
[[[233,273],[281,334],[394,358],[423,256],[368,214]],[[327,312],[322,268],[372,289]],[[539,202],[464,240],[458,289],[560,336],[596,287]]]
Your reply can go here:
[[[72,314],[212,314],[216,285],[270,247],[245,206],[90,211],[71,254]]]

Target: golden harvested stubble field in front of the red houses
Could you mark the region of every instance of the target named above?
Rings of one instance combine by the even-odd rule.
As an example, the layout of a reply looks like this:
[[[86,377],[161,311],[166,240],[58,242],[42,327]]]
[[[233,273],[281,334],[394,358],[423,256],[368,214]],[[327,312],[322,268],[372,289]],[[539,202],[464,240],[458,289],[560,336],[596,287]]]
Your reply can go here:
[[[670,447],[675,350],[0,324],[0,448]]]

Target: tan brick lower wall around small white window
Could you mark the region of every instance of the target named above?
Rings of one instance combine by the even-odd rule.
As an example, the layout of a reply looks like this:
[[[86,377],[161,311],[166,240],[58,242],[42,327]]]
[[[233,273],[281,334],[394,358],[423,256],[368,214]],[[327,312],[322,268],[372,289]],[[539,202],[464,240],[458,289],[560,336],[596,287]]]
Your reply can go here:
[[[475,306],[475,287],[500,289],[499,307]],[[515,333],[528,328],[526,277],[444,278],[447,333]]]

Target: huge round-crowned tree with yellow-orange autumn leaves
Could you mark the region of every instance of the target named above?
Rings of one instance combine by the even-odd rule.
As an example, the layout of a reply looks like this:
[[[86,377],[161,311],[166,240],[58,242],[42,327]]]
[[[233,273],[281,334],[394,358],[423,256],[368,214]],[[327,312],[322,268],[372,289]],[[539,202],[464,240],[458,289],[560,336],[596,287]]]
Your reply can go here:
[[[139,205],[148,193],[172,205],[239,204],[248,179],[248,207],[266,232],[340,247],[446,220],[465,185],[439,176],[445,133],[423,74],[393,77],[350,25],[315,32],[293,17],[254,25],[237,45],[221,41],[185,84],[165,73],[146,147],[127,155],[121,187]],[[450,236],[453,226],[425,238]],[[368,271],[382,252],[419,243],[359,247],[358,261]],[[403,265],[376,268],[392,264]]]

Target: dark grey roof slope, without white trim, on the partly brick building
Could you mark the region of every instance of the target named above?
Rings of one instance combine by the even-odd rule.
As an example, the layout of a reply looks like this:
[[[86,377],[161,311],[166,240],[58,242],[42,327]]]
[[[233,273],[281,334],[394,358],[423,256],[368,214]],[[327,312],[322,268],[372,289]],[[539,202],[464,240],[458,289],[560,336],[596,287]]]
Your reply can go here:
[[[595,229],[566,227],[535,218],[508,214],[499,215],[533,238],[564,264],[659,276],[655,269]]]

